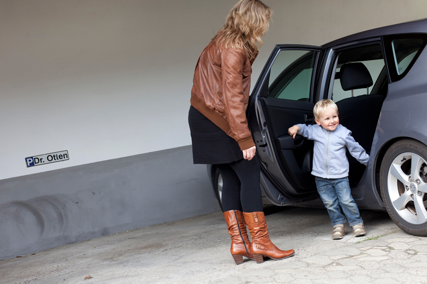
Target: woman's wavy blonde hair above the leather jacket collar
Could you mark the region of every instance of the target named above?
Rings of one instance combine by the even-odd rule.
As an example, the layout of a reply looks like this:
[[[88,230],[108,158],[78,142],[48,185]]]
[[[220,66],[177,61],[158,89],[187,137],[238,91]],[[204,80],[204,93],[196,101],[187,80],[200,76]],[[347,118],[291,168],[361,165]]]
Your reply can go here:
[[[273,10],[259,0],[240,0],[226,19],[226,24],[212,40],[217,46],[244,48],[249,59],[253,59],[261,48],[261,37],[268,30],[268,22]]]

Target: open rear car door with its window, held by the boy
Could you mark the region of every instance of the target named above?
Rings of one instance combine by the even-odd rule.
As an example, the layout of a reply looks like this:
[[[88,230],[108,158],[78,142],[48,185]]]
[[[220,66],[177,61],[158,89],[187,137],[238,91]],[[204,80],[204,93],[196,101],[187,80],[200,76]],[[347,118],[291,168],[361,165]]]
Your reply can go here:
[[[316,198],[313,142],[288,134],[298,124],[313,124],[316,70],[321,48],[277,45],[254,87],[248,124],[257,147],[261,185],[276,205]]]

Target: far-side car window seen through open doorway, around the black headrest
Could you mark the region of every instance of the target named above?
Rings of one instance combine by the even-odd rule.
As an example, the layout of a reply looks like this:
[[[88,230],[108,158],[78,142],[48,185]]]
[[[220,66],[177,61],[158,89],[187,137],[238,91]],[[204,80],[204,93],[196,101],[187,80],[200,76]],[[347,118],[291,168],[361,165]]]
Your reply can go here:
[[[385,65],[381,45],[379,44],[342,51],[338,54],[335,60],[335,72],[333,72],[333,83],[331,82],[332,88],[330,88],[329,96],[334,102],[338,102],[352,96],[351,90],[344,91],[341,87],[340,71],[344,64],[356,62],[362,63],[368,69],[372,82],[374,83],[369,88],[353,90],[353,97],[370,94]]]

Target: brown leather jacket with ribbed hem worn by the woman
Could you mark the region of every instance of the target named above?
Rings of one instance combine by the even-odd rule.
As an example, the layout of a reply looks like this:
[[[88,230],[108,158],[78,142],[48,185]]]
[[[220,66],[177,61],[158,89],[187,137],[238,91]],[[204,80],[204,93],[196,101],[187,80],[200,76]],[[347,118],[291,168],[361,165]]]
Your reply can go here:
[[[194,71],[191,105],[234,138],[241,150],[255,146],[246,120],[253,60],[244,49],[203,50]]]

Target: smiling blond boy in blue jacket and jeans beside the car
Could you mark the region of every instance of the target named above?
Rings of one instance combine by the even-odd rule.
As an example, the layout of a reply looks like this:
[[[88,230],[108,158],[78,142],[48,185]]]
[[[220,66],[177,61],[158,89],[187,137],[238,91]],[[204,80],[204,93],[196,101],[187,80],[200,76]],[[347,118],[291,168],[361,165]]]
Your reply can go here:
[[[314,140],[313,170],[317,191],[334,226],[333,239],[343,238],[346,218],[355,236],[365,234],[363,220],[351,195],[349,185],[349,162],[346,147],[360,163],[367,165],[369,155],[351,136],[351,131],[340,125],[338,107],[332,100],[321,100],[313,109],[317,125],[297,124],[288,129],[289,135],[296,134]]]

